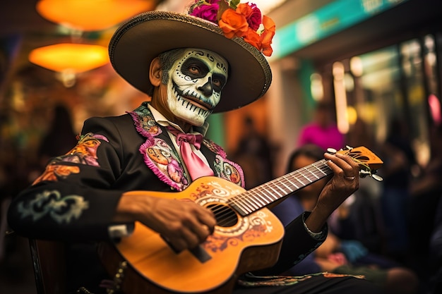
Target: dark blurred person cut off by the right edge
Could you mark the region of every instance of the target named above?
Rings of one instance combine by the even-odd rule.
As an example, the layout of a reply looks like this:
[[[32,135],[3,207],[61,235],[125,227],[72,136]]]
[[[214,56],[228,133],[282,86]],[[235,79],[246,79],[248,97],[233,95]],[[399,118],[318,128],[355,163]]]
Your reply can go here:
[[[431,127],[430,142],[429,162],[410,183],[408,262],[442,293],[442,125]]]

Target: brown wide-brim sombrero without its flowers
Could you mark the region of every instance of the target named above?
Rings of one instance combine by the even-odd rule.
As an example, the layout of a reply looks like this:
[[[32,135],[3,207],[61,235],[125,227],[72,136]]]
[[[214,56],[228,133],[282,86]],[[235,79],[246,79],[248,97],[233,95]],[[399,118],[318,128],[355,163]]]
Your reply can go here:
[[[109,42],[115,71],[133,87],[149,93],[149,66],[158,54],[177,48],[201,48],[229,63],[229,78],[214,111],[238,109],[267,92],[272,74],[265,56],[240,37],[228,39],[220,27],[201,18],[169,11],[141,13],[123,23]]]

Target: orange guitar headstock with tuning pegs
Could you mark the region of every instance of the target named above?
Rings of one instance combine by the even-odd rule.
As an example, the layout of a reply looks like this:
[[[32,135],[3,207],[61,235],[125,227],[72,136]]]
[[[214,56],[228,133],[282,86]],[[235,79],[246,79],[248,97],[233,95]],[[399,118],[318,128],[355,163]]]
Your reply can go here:
[[[347,146],[347,149],[342,149],[338,151],[338,153],[349,155],[359,164],[359,176],[361,176],[361,178],[371,176],[375,180],[382,180],[382,178],[380,176],[376,176],[375,173],[379,168],[381,168],[383,161],[376,154],[371,152],[370,149],[364,146],[355,148]]]

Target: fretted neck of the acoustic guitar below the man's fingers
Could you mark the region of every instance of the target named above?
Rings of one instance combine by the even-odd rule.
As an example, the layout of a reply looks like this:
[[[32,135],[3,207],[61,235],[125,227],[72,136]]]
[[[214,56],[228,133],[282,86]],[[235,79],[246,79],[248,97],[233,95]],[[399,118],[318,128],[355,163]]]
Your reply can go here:
[[[229,199],[229,205],[241,216],[247,216],[283,197],[304,188],[306,185],[321,180],[333,173],[326,160],[321,159],[301,169],[287,173],[285,176],[270,180],[251,190],[235,195]]]

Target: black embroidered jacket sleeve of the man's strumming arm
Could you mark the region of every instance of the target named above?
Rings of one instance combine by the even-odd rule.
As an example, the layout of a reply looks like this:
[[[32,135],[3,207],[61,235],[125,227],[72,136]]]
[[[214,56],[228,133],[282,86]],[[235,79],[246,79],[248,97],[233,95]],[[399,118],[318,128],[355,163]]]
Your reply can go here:
[[[13,199],[8,224],[19,235],[79,242],[109,239],[124,192],[112,189],[124,159],[120,131],[112,120],[91,118],[81,134],[76,147],[49,161],[42,175]]]

